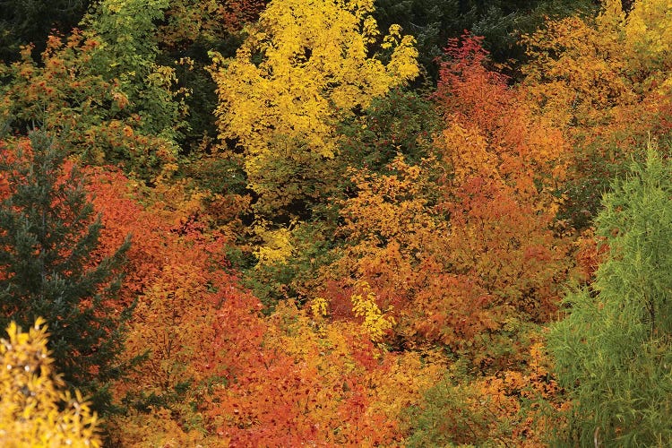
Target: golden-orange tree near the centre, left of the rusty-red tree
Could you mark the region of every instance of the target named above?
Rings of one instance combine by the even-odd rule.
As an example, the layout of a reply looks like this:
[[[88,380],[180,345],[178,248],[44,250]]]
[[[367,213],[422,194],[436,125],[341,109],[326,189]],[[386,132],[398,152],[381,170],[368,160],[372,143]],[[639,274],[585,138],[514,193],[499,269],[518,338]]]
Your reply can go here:
[[[374,289],[379,306],[393,306],[400,315],[395,331],[401,337],[406,336],[407,313],[421,313],[416,294],[442,269],[435,255],[443,252],[448,226],[435,208],[434,185],[426,174],[435,162],[409,165],[397,155],[387,165],[389,174],[352,169],[356,194],[341,201],[342,223],[336,231],[345,244],[333,249],[335,260],[324,275],[341,288],[365,281]],[[340,305],[350,307],[334,301],[332,308]]]

